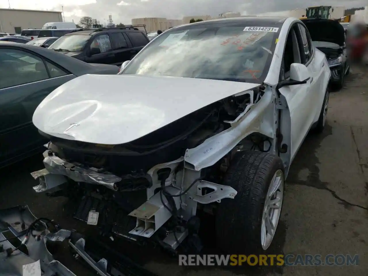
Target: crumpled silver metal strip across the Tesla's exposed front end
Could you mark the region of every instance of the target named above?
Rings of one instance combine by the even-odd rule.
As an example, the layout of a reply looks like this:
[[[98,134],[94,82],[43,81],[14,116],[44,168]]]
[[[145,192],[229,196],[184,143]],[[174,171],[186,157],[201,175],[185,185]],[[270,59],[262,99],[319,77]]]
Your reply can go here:
[[[117,190],[115,183],[121,181],[121,178],[114,174],[98,173],[93,168],[83,168],[82,164],[69,163],[55,155],[48,155],[48,151],[45,153],[47,154],[44,154],[43,163],[46,170],[51,174],[67,176],[76,182],[104,185],[114,191]]]

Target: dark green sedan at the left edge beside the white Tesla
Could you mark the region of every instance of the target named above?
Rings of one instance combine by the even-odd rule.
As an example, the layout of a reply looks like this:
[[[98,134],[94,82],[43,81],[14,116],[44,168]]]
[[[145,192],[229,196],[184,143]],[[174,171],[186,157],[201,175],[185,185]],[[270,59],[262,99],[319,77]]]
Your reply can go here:
[[[1,42],[0,167],[39,152],[47,142],[33,126],[32,116],[50,92],[80,75],[118,71],[114,65],[88,64],[43,47]]]

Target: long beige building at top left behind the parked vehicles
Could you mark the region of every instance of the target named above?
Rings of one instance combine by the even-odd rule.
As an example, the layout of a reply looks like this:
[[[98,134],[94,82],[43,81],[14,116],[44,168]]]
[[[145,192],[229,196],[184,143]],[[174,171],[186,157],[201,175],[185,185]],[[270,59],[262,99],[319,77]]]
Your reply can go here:
[[[40,29],[46,22],[63,22],[61,11],[0,9],[0,32],[21,33]]]

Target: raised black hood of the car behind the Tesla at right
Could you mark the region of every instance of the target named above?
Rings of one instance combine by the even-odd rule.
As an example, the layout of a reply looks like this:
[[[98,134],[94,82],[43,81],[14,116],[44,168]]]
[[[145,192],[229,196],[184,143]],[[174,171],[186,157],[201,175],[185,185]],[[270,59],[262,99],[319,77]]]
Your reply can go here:
[[[333,42],[344,45],[345,30],[336,20],[331,19],[305,19],[302,20],[313,41]]]

